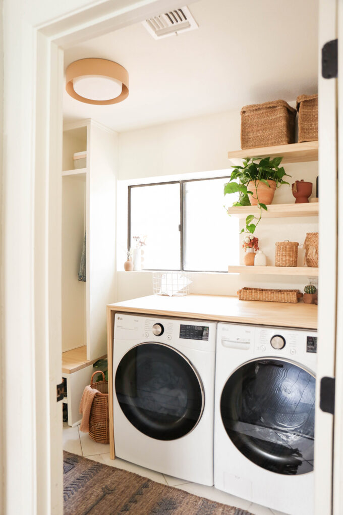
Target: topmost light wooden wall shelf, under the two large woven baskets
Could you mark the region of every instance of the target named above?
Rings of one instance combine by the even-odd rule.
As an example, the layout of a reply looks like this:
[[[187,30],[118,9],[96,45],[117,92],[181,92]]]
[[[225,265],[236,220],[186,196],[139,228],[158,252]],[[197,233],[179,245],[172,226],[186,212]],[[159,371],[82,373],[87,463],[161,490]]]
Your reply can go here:
[[[270,156],[272,159],[282,156],[282,164],[317,161],[318,142],[310,141],[308,143],[292,143],[291,145],[248,148],[245,150],[235,150],[233,152],[228,152],[228,158],[232,164],[241,164],[242,159],[245,158],[265,158],[268,156]]]

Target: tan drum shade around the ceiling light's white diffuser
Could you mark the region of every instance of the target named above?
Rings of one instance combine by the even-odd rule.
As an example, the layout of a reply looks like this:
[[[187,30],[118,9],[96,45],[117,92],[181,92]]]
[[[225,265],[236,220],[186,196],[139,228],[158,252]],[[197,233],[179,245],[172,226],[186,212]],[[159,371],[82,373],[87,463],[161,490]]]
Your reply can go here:
[[[107,77],[110,79],[118,80],[122,83],[121,93],[115,98],[108,100],[92,100],[80,96],[74,90],[74,79],[83,76]],[[106,106],[109,104],[117,104],[129,95],[129,74],[123,66],[108,59],[80,59],[70,63],[65,72],[65,89],[67,93],[85,104],[95,104],[98,106]]]

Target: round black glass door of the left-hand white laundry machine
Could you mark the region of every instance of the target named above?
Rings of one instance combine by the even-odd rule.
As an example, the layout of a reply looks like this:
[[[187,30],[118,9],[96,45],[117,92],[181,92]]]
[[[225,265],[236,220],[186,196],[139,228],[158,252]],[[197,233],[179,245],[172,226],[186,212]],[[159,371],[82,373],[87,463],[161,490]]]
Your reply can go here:
[[[204,409],[200,377],[183,354],[164,344],[129,350],[118,365],[115,391],[125,417],[158,440],[187,435]]]

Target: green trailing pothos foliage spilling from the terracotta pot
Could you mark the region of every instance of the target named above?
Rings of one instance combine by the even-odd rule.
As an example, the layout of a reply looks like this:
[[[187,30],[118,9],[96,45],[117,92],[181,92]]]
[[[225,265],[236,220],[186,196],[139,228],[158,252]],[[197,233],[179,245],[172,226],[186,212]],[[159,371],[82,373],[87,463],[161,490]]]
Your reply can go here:
[[[281,161],[282,157],[274,159],[270,159],[270,157],[262,159],[246,158],[243,159],[243,166],[232,166],[233,171],[230,175],[230,180],[224,185],[224,195],[238,192],[238,201],[233,202],[232,206],[247,206],[251,205],[249,195],[256,194],[257,206],[259,208],[259,216],[248,215],[246,217],[245,228],[241,230],[240,234],[242,232],[253,234],[261,221],[262,210],[268,211],[267,206],[259,201],[257,187],[259,182],[264,183],[268,187],[270,187],[268,180],[275,181],[276,187],[280,187],[282,184],[290,185],[289,182],[283,180],[284,177],[290,177],[290,175],[286,174],[283,166],[279,166]],[[254,184],[254,187],[252,187],[251,183]],[[248,187],[253,188],[254,192],[249,191]]]

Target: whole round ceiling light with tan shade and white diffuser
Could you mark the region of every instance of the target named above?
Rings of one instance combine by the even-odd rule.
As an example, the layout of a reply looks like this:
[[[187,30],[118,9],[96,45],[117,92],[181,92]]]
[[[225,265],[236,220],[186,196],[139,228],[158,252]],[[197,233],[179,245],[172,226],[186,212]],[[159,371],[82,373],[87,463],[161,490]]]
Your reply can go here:
[[[129,95],[129,74],[108,59],[80,59],[65,72],[67,93],[85,104],[117,104]]]

